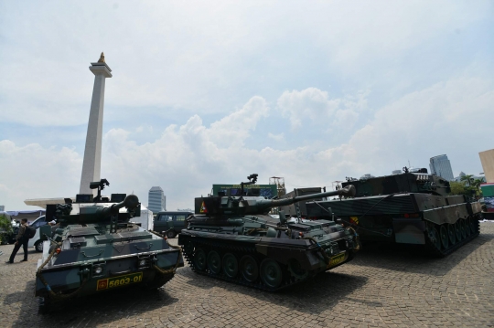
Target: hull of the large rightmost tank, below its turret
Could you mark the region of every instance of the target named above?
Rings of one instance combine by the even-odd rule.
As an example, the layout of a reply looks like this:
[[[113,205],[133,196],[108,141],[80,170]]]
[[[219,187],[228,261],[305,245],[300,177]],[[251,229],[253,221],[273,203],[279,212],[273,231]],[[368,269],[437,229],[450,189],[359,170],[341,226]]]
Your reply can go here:
[[[312,218],[327,217],[330,207],[335,216],[359,228],[362,241],[425,245],[438,256],[479,234],[480,205],[464,196],[403,193],[313,202],[306,207]]]

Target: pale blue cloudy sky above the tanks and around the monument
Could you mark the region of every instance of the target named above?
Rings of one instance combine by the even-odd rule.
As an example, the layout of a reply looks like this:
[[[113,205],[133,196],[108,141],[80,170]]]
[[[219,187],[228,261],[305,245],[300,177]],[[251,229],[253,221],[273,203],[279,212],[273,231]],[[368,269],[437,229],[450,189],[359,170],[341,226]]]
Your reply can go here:
[[[79,192],[104,51],[102,178],[147,206],[288,191],[494,148],[491,1],[0,0],[0,205]]]

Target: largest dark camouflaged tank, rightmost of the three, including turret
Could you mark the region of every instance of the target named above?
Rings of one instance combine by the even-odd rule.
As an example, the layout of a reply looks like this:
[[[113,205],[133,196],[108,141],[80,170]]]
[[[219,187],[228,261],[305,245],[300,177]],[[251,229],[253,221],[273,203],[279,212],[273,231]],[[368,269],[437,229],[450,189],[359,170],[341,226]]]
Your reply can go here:
[[[478,202],[466,196],[450,196],[449,182],[427,169],[403,174],[348,178],[342,186],[354,185],[355,198],[307,202],[307,216],[334,215],[358,227],[364,240],[384,240],[425,245],[436,256],[446,256],[476,238],[479,233]]]

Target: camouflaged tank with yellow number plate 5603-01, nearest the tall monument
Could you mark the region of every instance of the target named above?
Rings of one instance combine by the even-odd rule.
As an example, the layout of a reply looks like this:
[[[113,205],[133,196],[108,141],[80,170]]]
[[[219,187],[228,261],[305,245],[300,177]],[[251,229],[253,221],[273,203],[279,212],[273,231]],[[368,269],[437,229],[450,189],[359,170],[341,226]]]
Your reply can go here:
[[[36,273],[40,312],[70,297],[134,285],[159,288],[184,265],[179,247],[129,222],[140,210],[137,196],[102,197],[105,185],[106,179],[91,183],[98,188],[94,199],[77,195],[74,203],[67,198],[47,206],[47,221],[56,219],[58,226],[39,227],[46,239]]]

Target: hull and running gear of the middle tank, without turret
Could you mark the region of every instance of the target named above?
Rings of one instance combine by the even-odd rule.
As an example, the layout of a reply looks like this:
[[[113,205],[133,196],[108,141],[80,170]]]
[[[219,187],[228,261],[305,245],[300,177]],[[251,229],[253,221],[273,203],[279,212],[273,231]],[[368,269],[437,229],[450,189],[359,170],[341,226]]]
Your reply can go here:
[[[324,225],[327,226],[318,230],[324,236],[317,240],[280,238],[285,233],[283,231],[279,231],[276,236],[266,237],[211,232],[207,231],[208,227],[184,229],[178,235],[178,244],[182,246],[184,257],[192,270],[199,274],[265,291],[279,291],[353,259],[359,248],[355,236],[346,229],[329,227],[334,223]],[[294,224],[289,225],[288,229],[293,232],[298,226],[309,232],[321,224]],[[218,226],[210,228],[219,230]],[[328,247],[332,248],[331,251]],[[216,266],[209,263],[211,257],[219,259]],[[242,264],[246,259],[251,261],[252,270],[257,271],[253,276]],[[229,265],[237,269],[230,270]],[[268,265],[273,266],[275,271],[280,270],[280,276],[274,274],[270,278],[269,269],[265,269]],[[276,281],[273,283],[272,280]]]

